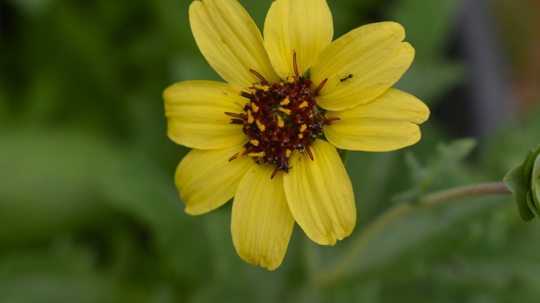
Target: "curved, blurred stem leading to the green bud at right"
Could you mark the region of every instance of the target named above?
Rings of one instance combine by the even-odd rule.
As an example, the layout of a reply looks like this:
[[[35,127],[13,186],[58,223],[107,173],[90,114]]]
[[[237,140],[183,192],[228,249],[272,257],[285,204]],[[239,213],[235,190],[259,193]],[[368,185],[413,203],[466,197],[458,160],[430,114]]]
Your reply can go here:
[[[502,182],[479,183],[454,187],[449,190],[441,190],[440,192],[433,192],[427,194],[416,203],[399,203],[395,205],[393,208],[386,210],[386,212],[382,213],[377,219],[372,221],[359,237],[354,239],[350,249],[345,252],[335,266],[332,266],[332,269],[327,273],[320,273],[317,275],[314,282],[320,286],[325,286],[339,281],[339,279],[344,277],[348,270],[350,270],[354,260],[361,255],[363,249],[366,248],[366,245],[369,244],[372,239],[375,239],[379,232],[398,219],[405,217],[407,214],[421,208],[428,208],[456,201],[458,199],[487,194],[510,194],[510,192]]]

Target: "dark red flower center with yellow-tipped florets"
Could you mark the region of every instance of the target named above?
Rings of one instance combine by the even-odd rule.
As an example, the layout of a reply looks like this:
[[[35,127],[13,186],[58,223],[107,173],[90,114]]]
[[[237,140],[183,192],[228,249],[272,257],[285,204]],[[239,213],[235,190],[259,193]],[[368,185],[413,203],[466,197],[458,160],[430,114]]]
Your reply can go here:
[[[242,106],[244,113],[226,113],[233,117],[230,123],[243,126],[242,131],[249,137],[249,141],[241,152],[229,160],[247,155],[255,163],[276,165],[271,176],[273,178],[278,171],[287,173],[292,168],[289,166],[289,157],[294,149],[302,154],[307,152],[313,160],[309,145],[323,134],[325,124],[330,125],[330,122],[339,118],[325,118],[314,99],[326,80],[316,91],[312,91],[312,81],[298,75],[297,71],[296,76],[289,76],[287,80],[273,84],[258,72],[250,71],[260,81],[249,87],[249,92],[240,93],[249,99]]]

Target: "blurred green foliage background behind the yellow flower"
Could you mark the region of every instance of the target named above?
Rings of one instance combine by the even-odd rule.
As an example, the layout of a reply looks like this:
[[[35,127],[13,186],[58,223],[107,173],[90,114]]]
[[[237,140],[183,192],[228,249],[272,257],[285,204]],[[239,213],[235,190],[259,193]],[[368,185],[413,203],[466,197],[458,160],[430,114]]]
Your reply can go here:
[[[499,181],[537,147],[537,1],[328,0],[334,39],[404,25],[416,57],[397,86],[432,116],[414,147],[350,152],[352,236],[317,246],[295,226],[273,272],[237,257],[231,203],[190,217],[174,188],[188,149],[166,137],[161,93],[219,80],[190,2],[0,0],[0,302],[536,302],[540,225],[509,196],[416,212],[318,278],[397,197]],[[262,28],[271,1],[240,2]]]

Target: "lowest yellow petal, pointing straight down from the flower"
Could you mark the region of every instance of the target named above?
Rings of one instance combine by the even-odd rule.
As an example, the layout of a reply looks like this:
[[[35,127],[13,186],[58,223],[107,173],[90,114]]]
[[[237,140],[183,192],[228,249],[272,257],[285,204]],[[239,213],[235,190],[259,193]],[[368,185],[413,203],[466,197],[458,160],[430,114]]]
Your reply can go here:
[[[246,172],[233,201],[231,221],[238,255],[269,270],[280,266],[294,226],[282,174],[271,179],[272,170],[265,165],[253,165]]]

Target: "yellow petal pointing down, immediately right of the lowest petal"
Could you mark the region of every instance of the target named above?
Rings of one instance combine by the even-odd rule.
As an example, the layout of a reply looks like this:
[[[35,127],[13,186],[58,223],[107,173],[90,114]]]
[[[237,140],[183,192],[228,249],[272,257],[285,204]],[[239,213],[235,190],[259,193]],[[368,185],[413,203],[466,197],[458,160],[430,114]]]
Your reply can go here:
[[[291,154],[292,168],[284,176],[285,195],[307,237],[334,245],[350,235],[357,221],[352,185],[330,143],[316,140],[310,148],[314,160],[297,151]]]

